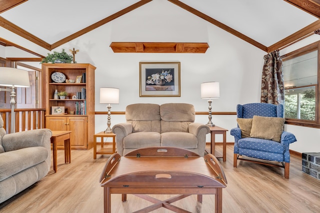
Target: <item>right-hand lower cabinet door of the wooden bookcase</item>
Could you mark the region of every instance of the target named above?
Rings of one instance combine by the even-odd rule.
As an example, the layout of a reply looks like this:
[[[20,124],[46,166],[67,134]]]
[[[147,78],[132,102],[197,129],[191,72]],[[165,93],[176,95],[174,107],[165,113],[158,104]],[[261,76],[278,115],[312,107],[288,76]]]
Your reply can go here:
[[[70,133],[70,144],[72,149],[87,148],[87,117],[68,117],[68,130]]]

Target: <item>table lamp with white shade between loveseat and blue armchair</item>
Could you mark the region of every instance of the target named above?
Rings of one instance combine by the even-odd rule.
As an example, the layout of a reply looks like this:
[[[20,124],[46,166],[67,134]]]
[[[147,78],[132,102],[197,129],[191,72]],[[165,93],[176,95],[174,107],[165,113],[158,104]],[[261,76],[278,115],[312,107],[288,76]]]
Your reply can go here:
[[[209,99],[209,121],[206,124],[209,127],[214,127],[215,125],[211,122],[212,114],[211,114],[211,98],[219,98],[220,97],[220,87],[219,82],[204,82],[201,83],[201,98]]]

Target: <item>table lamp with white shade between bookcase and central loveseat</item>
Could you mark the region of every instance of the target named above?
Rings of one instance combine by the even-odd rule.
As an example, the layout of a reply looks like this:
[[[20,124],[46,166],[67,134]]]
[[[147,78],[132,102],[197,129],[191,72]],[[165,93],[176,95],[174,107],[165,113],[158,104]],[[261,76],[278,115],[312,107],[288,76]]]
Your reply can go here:
[[[119,103],[119,89],[118,88],[109,88],[102,87],[100,88],[100,104],[108,104],[106,107],[108,108],[108,120],[107,120],[107,128],[104,133],[111,133],[112,130],[110,128],[111,125],[111,105],[110,104],[118,104]]]

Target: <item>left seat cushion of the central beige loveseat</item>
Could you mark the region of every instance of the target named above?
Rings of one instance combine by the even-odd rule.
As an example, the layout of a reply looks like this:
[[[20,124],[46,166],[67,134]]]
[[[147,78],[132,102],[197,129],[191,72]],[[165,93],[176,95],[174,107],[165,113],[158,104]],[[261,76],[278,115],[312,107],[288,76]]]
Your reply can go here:
[[[135,132],[123,138],[124,149],[138,149],[142,147],[159,147],[161,136],[157,132]]]

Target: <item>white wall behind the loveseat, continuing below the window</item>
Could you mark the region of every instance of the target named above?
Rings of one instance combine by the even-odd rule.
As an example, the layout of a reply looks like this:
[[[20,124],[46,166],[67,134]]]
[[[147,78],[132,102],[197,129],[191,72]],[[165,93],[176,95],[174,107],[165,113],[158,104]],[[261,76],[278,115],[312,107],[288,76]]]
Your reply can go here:
[[[207,42],[210,47],[204,54],[113,53],[109,47],[112,41]],[[190,103],[196,111],[207,111],[207,101],[200,99],[200,84],[206,81],[220,82],[220,98],[212,101],[214,112],[235,112],[236,104],[260,102],[266,52],[167,1],[151,1],[54,50],[73,47],[80,50],[75,55],[77,63],[96,66],[95,111],[106,111],[105,104],[99,104],[100,87],[120,89],[120,103],[112,105],[111,111],[125,111],[132,103],[168,102]],[[139,97],[140,61],[179,61],[181,97]],[[196,122],[207,121],[206,115],[196,116]],[[119,122],[125,122],[124,115],[111,116],[111,125]],[[213,115],[212,122],[230,131],[236,126],[236,116]],[[95,132],[105,128],[106,115],[96,115]],[[285,130],[298,139],[290,149],[301,153],[320,151],[316,142],[319,129],[285,125]],[[233,141],[227,132],[227,142]]]

